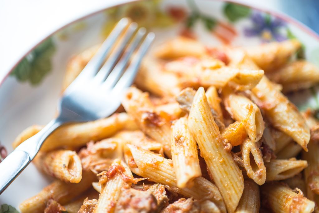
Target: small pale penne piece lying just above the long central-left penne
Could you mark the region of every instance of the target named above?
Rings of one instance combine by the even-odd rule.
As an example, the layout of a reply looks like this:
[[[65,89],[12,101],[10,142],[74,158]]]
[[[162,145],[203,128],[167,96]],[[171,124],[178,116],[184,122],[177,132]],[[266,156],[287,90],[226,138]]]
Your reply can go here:
[[[156,153],[160,153],[163,149],[163,145],[157,141],[147,137],[142,131],[121,131],[117,133],[115,138],[120,138],[125,143],[134,144],[146,150],[150,150]]]

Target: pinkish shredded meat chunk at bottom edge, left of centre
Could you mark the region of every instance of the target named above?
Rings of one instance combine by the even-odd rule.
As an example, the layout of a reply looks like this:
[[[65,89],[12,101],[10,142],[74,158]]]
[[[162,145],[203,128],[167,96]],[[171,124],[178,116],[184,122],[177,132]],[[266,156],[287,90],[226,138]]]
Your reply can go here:
[[[157,202],[152,193],[123,188],[115,207],[115,213],[151,213],[156,209]]]

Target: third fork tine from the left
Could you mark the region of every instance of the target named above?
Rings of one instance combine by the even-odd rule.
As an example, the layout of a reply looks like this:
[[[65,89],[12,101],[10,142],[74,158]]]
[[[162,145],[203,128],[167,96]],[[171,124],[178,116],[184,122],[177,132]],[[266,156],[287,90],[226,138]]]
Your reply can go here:
[[[110,89],[110,88],[114,87],[114,85],[117,83],[117,81],[119,80],[119,78],[122,75],[123,70],[125,69],[125,67],[129,63],[131,55],[133,54],[133,52],[137,48],[138,44],[140,43],[141,39],[144,37],[145,33],[146,33],[146,29],[144,27],[140,28],[137,31],[136,35],[134,36],[133,41],[130,43],[126,52],[124,53],[124,55],[122,56],[120,61],[117,63],[117,65],[115,65],[114,69],[112,70],[112,72],[110,73],[108,78],[103,83],[103,85],[102,85],[103,90]]]

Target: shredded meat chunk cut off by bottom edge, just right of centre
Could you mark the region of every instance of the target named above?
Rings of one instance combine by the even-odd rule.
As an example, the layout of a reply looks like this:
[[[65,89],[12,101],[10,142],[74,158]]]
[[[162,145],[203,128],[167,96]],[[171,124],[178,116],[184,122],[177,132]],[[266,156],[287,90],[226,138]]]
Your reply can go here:
[[[200,204],[193,199],[181,198],[169,204],[161,213],[200,213]]]

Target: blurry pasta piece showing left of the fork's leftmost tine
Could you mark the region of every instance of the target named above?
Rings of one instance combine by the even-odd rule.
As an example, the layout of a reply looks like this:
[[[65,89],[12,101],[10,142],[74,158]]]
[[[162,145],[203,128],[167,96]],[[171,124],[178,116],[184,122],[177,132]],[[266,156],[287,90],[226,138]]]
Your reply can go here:
[[[62,83],[62,91],[64,91],[72,83],[72,81],[78,77],[78,74],[80,74],[85,65],[90,61],[99,48],[100,45],[90,47],[82,53],[73,56],[68,61]]]

